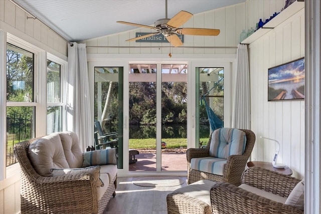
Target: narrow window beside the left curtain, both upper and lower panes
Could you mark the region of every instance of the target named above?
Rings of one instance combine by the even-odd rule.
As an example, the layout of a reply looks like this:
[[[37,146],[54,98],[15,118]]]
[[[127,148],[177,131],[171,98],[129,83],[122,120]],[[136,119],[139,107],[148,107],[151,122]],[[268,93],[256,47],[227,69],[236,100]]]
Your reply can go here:
[[[47,60],[47,134],[62,131],[61,65]]]

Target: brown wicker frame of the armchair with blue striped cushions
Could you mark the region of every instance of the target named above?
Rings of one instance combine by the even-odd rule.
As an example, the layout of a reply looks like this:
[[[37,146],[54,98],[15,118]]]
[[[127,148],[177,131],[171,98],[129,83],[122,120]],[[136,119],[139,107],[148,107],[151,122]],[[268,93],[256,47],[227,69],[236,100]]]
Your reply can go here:
[[[186,152],[187,156],[187,170],[188,170],[188,180],[187,183],[194,183],[199,180],[214,180],[214,181],[225,181],[232,183],[234,185],[240,185],[241,176],[245,170],[246,163],[251,155],[254,143],[255,134],[251,130],[240,129],[246,134],[246,147],[242,155],[231,155],[227,159],[227,163],[224,169],[224,175],[217,175],[208,172],[199,171],[191,168],[191,159],[196,157],[208,157],[210,156],[210,144],[211,137],[205,148],[189,148]]]

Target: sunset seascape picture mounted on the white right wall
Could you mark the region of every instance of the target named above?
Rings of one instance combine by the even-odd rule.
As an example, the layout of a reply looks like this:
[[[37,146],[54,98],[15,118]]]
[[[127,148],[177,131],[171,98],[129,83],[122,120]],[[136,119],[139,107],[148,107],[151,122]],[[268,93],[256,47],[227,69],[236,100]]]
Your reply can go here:
[[[304,99],[304,57],[268,69],[268,101]]]

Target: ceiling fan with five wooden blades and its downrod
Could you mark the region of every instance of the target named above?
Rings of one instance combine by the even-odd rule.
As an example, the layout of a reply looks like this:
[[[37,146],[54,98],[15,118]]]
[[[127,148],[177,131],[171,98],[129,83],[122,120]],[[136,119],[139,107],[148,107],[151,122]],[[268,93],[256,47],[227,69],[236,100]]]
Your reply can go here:
[[[163,34],[166,37],[166,39],[171,43],[171,45],[173,45],[174,47],[179,47],[179,46],[182,46],[183,43],[177,35],[217,36],[220,34],[220,30],[218,29],[179,28],[180,26],[185,24],[189,19],[191,19],[193,14],[186,11],[181,11],[178,14],[176,14],[172,19],[168,19],[167,18],[167,0],[165,3],[165,6],[166,6],[166,18],[155,21],[154,27],[135,24],[135,23],[129,23],[129,22],[123,22],[123,21],[117,21],[117,23],[120,23],[120,24],[132,25],[132,26],[141,27],[141,28],[149,28],[157,31],[155,33],[147,34],[140,37],[135,37],[126,41],[131,42],[131,41],[151,37],[154,35]]]

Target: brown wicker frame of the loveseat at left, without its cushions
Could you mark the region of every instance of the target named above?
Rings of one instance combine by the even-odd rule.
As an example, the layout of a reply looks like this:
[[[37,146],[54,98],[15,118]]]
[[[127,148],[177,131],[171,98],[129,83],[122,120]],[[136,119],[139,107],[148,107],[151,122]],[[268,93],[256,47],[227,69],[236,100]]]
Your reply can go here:
[[[37,139],[14,147],[21,168],[21,213],[102,213],[115,195],[116,177],[98,201],[96,183],[89,174],[41,176],[28,154],[30,144]]]

